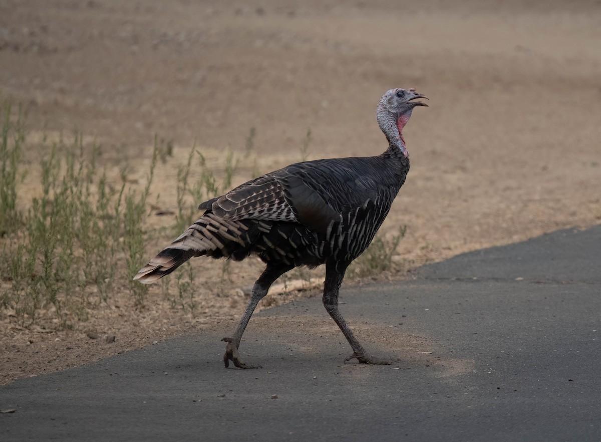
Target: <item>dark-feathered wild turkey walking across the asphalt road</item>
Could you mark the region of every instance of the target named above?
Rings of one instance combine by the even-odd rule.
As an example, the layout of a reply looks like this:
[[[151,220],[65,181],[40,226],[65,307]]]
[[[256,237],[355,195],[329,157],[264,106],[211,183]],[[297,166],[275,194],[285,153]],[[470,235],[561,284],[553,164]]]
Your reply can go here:
[[[409,171],[403,127],[415,106],[427,98],[415,89],[387,91],[377,121],[388,140],[382,155],[301,162],[244,183],[200,204],[196,223],[136,274],[153,283],[194,256],[266,263],[233,337],[226,337],[225,367],[258,368],[238,353],[242,334],[258,302],[279,276],[297,266],[326,265],[323,305],[361,363],[390,364],[368,354],[338,310],[338,289],[350,262],[370,244]]]

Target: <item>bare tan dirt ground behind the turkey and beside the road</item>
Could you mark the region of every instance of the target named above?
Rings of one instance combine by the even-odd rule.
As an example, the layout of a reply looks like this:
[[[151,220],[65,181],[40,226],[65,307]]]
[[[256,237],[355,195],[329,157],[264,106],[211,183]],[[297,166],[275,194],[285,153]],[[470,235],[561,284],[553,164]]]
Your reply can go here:
[[[385,277],[600,223],[599,1],[0,0],[0,90],[28,109],[28,139],[78,128],[102,144],[110,170],[129,159],[141,182],[154,135],[173,140],[150,198],[160,194],[163,210],[176,210],[177,167],[195,140],[215,167],[227,147],[242,158],[234,184],[253,167],[299,161],[308,129],[309,159],[382,152],[374,112],[392,87],[417,88],[430,107],[404,131],[411,170],[383,229],[407,225],[395,257],[405,265]],[[243,158],[251,127],[256,166]],[[28,176],[23,201],[37,183]],[[195,268],[206,281],[195,316],[158,288],[145,308],[114,293],[73,331],[26,330],[0,314],[0,384],[198,327],[233,329],[245,299],[228,293],[260,264],[233,264],[227,284],[221,263]]]

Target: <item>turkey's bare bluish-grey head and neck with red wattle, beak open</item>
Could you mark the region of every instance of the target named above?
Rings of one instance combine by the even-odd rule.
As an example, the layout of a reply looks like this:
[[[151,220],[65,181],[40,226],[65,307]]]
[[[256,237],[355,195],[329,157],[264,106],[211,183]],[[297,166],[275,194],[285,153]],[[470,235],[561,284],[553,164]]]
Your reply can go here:
[[[377,105],[377,122],[386,135],[389,149],[400,150],[405,158],[409,157],[409,153],[403,140],[403,127],[409,121],[415,106],[427,106],[426,103],[412,101],[418,98],[428,99],[413,88],[409,90],[396,88],[386,91]]]

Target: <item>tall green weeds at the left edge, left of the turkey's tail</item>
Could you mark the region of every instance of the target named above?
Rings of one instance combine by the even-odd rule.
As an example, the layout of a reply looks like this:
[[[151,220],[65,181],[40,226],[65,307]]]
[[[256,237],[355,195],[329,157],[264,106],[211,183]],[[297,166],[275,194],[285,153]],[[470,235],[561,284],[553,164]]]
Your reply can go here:
[[[24,212],[17,204],[22,118],[19,113],[12,123],[10,106],[5,106],[0,308],[13,310],[22,326],[34,323],[43,310],[59,328],[69,328],[73,321],[85,321],[90,307],[106,302],[115,284],[129,281],[131,269],[144,259],[142,223],[157,150],[148,183],[139,192],[127,185],[124,174],[120,186],[109,185],[98,165],[96,143],[84,143],[77,133],[70,144],[61,138],[45,146],[49,153],[40,159],[40,192]],[[144,288],[129,287],[142,302]]]

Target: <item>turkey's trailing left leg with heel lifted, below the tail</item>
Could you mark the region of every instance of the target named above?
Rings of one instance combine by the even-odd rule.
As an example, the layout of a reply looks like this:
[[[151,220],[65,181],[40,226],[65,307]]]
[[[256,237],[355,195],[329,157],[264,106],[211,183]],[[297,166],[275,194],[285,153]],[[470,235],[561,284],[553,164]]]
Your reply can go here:
[[[261,276],[255,282],[255,285],[252,287],[251,299],[248,300],[248,304],[246,305],[246,310],[242,315],[242,319],[234,332],[234,337],[224,337],[222,341],[227,342],[227,346],[225,346],[225,354],[224,354],[224,364],[227,368],[230,366],[230,361],[234,363],[234,366],[238,368],[261,368],[260,365],[251,365],[246,364],[240,354],[238,353],[238,347],[240,346],[240,340],[242,340],[242,334],[246,329],[246,325],[248,325],[248,321],[250,321],[252,312],[255,311],[257,304],[263,298],[263,296],[267,295],[267,290],[273,284],[273,281],[278,279],[281,275],[287,272],[290,269],[293,269],[294,266],[274,266],[267,265],[267,268],[263,271]]]

